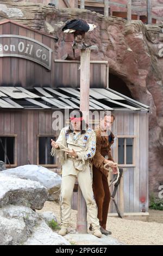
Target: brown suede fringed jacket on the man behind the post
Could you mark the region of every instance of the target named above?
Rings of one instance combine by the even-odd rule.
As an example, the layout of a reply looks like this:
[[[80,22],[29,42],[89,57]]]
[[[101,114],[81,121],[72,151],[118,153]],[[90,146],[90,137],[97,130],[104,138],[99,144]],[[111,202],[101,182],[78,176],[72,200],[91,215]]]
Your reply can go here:
[[[95,130],[96,132],[96,153],[92,159],[93,167],[96,167],[102,173],[104,170],[104,160],[105,156],[108,155],[108,160],[113,161],[111,156],[110,147],[114,143],[114,134],[110,132],[109,136],[102,136],[102,131],[100,129]]]

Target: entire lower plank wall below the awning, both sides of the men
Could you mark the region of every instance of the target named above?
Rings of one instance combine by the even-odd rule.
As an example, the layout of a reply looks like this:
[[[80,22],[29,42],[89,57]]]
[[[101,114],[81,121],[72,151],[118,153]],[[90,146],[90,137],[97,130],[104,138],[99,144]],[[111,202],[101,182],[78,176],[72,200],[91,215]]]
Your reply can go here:
[[[17,135],[17,165],[37,164],[37,136],[58,136],[52,129],[53,111],[0,112],[0,136]],[[135,166],[124,167],[124,212],[140,212],[145,204],[148,210],[148,114],[116,113],[112,132],[115,136],[135,136]],[[112,147],[114,160],[117,161],[117,142]],[[59,166],[59,162],[57,162]],[[111,187],[112,192],[112,187]],[[77,195],[74,193],[73,207]],[[120,207],[120,189],[115,197]],[[145,203],[141,200],[145,199]],[[116,212],[111,203],[110,211]]]

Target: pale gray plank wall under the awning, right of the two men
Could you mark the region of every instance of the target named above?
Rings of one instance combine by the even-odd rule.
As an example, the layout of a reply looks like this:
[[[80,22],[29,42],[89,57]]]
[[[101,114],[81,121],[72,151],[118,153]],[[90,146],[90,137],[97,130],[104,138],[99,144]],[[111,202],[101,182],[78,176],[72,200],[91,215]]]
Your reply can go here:
[[[123,167],[123,200],[124,212],[141,212],[143,204],[148,211],[148,114],[116,113],[116,119],[112,127],[115,136],[135,136],[135,166]],[[117,161],[117,142],[112,145],[112,154]],[[110,180],[110,178],[109,178]],[[110,192],[112,193],[111,186]],[[145,203],[141,199],[145,198]],[[77,192],[73,193],[72,207],[76,208]],[[120,187],[118,187],[115,200],[118,208],[121,208]],[[116,213],[115,205],[111,202],[109,212]]]

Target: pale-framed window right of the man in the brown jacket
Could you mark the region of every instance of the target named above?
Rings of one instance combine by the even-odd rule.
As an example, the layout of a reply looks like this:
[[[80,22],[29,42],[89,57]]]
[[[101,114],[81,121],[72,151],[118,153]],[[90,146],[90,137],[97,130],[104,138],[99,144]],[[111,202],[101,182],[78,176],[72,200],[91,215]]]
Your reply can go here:
[[[118,164],[134,165],[134,137],[118,137]]]

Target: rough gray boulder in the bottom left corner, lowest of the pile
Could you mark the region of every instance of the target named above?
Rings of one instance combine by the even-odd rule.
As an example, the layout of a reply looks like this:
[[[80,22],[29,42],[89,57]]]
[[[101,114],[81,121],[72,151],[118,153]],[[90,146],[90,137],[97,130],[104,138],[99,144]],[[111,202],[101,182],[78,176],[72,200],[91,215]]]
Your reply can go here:
[[[21,245],[40,221],[40,216],[26,206],[0,208],[0,245]]]

